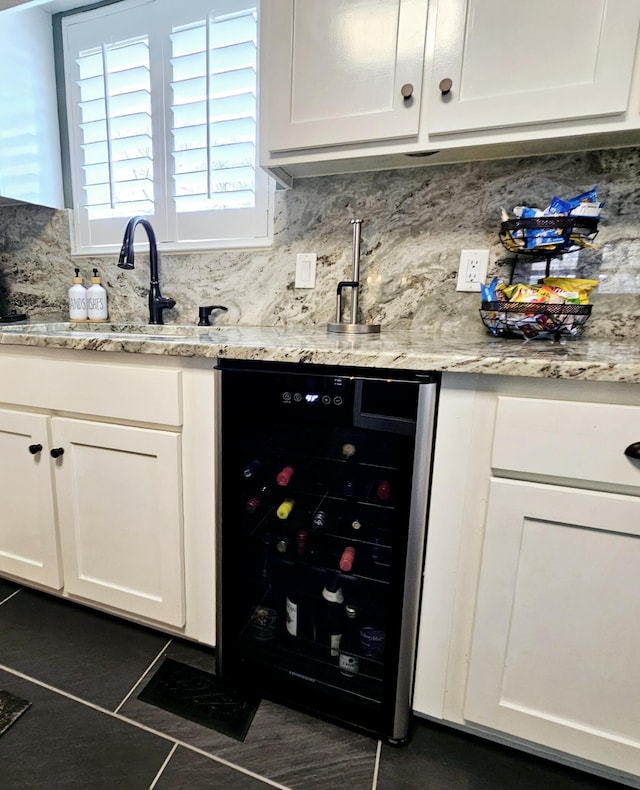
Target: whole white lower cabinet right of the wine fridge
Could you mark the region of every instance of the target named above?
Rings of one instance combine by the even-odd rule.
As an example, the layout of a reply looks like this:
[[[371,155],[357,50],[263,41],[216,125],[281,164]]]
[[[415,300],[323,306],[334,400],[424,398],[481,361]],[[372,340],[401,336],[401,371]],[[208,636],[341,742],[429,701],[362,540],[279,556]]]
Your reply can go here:
[[[640,387],[443,376],[414,711],[640,788]]]

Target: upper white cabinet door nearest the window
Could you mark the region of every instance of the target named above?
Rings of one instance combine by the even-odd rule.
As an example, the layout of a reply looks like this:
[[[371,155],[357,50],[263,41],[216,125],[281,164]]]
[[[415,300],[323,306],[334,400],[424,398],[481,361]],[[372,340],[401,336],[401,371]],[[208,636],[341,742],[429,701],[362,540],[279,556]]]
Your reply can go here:
[[[260,20],[263,150],[417,135],[426,0],[268,5]],[[411,86],[406,99],[403,86]]]

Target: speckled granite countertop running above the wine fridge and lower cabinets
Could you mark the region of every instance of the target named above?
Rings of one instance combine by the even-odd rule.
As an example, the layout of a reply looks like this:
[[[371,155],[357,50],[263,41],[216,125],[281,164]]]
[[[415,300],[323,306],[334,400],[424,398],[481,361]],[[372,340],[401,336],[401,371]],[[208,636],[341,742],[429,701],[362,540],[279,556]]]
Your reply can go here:
[[[0,345],[640,383],[638,344],[595,339],[553,343],[443,338],[416,330],[341,335],[325,326],[30,322],[0,326]]]

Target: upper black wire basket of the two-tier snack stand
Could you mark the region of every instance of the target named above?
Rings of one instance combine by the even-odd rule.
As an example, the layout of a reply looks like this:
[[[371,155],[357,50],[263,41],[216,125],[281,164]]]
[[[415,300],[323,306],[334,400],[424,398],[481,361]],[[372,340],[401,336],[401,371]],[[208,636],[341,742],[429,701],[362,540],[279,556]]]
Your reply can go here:
[[[500,225],[502,246],[521,255],[564,255],[593,247],[597,235],[597,217],[530,217]]]

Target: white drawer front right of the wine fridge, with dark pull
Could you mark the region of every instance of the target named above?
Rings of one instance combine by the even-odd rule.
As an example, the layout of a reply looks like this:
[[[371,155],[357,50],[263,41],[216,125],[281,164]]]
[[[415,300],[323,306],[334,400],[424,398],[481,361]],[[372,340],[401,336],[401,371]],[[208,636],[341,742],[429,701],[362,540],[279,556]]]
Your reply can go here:
[[[491,465],[496,474],[584,481],[640,493],[640,406],[499,397]]]

